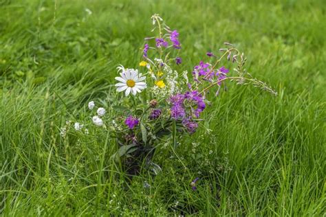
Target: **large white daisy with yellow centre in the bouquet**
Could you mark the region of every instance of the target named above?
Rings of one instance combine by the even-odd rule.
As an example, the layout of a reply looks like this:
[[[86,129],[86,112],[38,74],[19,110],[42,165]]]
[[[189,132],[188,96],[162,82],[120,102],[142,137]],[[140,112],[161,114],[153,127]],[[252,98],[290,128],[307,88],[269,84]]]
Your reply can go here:
[[[136,95],[136,93],[140,93],[143,89],[146,88],[146,83],[143,80],[146,77],[142,77],[142,73],[138,73],[138,69],[124,69],[124,67],[118,67],[118,71],[120,72],[121,77],[116,77],[116,80],[119,81],[116,84],[117,91],[126,91],[126,96],[129,93]]]

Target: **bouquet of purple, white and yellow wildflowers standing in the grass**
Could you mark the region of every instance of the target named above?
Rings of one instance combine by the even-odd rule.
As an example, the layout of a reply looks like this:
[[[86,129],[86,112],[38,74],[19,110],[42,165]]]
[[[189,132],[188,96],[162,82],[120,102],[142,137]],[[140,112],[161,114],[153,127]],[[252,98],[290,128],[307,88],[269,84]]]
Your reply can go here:
[[[157,172],[160,167],[152,161],[155,148],[166,142],[175,148],[178,137],[195,133],[199,122],[204,121],[200,117],[209,104],[208,94],[218,95],[226,81],[253,84],[276,94],[250,76],[244,69],[246,57],[230,43],[224,43],[226,47],[216,54],[208,52],[206,58],[210,61],[199,62],[191,72],[178,71],[182,64],[182,58],[177,56],[182,49],[179,32],[166,25],[158,14],[151,19],[152,32],[156,34],[145,38],[139,68],[118,67],[115,87],[119,100],[107,108],[108,112],[99,107],[91,117],[96,127],[116,138],[118,147],[112,159],[121,161],[128,174],[137,174],[142,163]],[[235,64],[235,75],[222,65],[224,61]],[[96,104],[91,101],[88,107],[94,110]],[[62,128],[63,136],[69,124]],[[74,128],[89,132],[79,122]]]

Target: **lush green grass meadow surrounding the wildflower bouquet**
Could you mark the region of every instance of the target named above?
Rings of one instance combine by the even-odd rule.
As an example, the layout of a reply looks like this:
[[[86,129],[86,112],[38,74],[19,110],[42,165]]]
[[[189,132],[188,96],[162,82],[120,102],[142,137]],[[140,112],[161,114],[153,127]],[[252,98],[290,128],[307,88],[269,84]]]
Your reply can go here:
[[[0,214],[325,215],[325,11],[323,0],[0,1]],[[127,183],[109,161],[114,139],[63,140],[59,128],[89,118],[89,100],[115,100],[116,67],[138,65],[153,13],[180,31],[182,70],[229,41],[279,95],[228,84],[210,98],[210,133],[162,146],[162,172]]]

